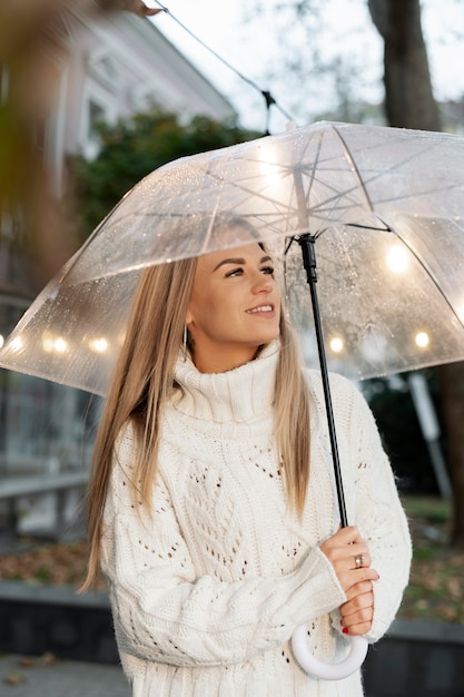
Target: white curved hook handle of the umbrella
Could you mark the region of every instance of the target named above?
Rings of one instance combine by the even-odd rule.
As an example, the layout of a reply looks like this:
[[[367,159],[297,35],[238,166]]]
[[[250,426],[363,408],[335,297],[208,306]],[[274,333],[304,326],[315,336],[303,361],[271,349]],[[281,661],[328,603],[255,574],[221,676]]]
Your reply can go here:
[[[306,673],[323,680],[342,680],[355,673],[366,658],[368,642],[365,637],[351,637],[352,647],[346,658],[338,664],[324,664],[315,658],[308,649],[307,628],[297,627],[292,637],[292,649],[295,658]]]

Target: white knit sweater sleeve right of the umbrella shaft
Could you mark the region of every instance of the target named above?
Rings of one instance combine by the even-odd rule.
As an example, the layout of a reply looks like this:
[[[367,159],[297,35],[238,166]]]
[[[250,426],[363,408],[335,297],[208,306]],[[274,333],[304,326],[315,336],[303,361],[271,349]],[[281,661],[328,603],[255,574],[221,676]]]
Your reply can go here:
[[[372,566],[381,577],[374,583],[374,621],[366,635],[369,641],[376,641],[386,632],[399,607],[408,582],[412,544],[377,425],[366,401],[355,389],[352,419],[355,524],[368,544]]]

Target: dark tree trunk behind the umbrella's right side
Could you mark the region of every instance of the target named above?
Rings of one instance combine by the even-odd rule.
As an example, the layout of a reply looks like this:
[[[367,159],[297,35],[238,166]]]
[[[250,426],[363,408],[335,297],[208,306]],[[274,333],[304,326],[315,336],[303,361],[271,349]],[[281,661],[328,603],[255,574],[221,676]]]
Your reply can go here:
[[[385,111],[389,125],[440,130],[419,0],[368,0],[367,4],[385,41]],[[464,548],[464,363],[442,365],[436,371],[453,482],[452,544]]]

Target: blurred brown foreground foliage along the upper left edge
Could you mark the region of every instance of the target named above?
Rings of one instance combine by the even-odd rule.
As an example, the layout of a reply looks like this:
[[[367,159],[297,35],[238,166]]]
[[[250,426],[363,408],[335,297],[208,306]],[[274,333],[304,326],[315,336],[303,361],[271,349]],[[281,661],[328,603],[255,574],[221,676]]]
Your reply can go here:
[[[142,0],[0,3],[0,235],[3,225],[14,228],[14,245],[28,257],[31,292],[75,252],[63,234],[40,137],[59,90],[58,66],[69,50],[68,14],[73,11],[93,19],[117,11],[150,17],[162,10],[148,8]],[[2,281],[11,284],[12,278]]]

